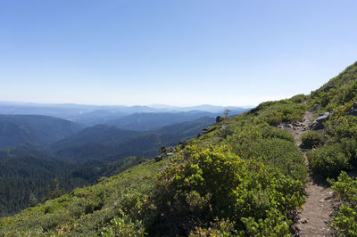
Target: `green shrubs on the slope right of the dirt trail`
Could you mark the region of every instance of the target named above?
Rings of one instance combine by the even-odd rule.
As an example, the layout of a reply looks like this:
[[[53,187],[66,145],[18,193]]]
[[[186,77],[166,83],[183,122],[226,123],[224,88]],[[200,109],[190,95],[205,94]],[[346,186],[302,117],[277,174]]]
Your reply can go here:
[[[357,236],[357,62],[312,92],[309,104],[315,113],[330,112],[308,159],[343,201],[331,225],[337,234]]]

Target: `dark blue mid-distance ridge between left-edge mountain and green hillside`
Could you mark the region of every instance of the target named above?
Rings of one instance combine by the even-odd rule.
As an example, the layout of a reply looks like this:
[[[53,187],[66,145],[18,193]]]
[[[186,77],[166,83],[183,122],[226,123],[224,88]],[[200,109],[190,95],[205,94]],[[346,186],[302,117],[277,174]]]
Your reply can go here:
[[[214,119],[201,118],[149,132],[122,130],[118,127],[95,126],[81,131],[51,147],[63,159],[83,161],[101,159],[114,161],[129,156],[155,156],[165,145],[190,139]]]

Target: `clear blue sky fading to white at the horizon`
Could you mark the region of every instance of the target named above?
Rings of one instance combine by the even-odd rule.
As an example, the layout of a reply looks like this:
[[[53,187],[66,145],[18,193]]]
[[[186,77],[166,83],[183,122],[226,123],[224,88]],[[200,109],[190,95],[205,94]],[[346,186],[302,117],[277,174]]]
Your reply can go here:
[[[254,105],[357,61],[357,1],[3,0],[0,101]]]

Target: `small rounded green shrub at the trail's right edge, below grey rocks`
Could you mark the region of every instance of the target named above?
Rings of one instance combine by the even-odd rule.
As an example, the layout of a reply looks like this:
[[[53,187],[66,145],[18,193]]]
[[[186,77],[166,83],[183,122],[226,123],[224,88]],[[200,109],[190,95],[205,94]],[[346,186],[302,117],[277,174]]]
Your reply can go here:
[[[314,173],[323,176],[336,176],[341,170],[350,169],[350,157],[345,155],[338,143],[328,144],[309,151],[307,158]]]

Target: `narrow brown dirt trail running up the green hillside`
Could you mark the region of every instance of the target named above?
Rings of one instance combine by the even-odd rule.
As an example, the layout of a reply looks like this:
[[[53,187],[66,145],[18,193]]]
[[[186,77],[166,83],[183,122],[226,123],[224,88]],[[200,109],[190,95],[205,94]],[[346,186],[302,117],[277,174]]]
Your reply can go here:
[[[283,124],[279,128],[287,129],[295,138],[295,144],[300,148],[302,143],[301,137],[303,133],[309,130],[312,114],[306,111],[303,116],[303,122],[293,124]],[[303,152],[305,163],[308,166],[309,162],[306,159],[305,150]],[[316,178],[309,176],[308,184],[306,185],[306,203],[299,215],[298,223],[295,225],[297,233],[295,236],[333,236],[333,231],[330,229],[328,222],[330,215],[334,210],[333,192],[324,182],[319,182]]]

